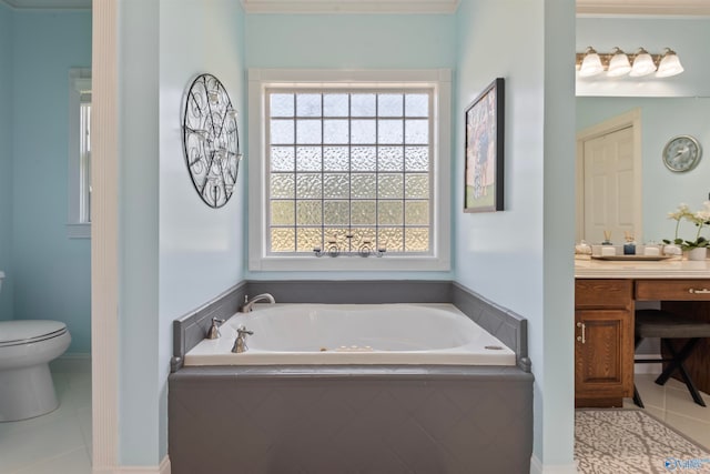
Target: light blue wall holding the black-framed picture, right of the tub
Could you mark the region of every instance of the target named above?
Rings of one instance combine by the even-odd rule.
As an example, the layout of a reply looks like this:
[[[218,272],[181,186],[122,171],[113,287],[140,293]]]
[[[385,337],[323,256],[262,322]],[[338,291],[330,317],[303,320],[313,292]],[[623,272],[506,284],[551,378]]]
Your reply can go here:
[[[536,463],[572,463],[574,2],[480,0],[458,13],[455,109],[506,79],[505,211],[454,212],[456,281],[529,321]],[[455,143],[464,142],[456,121]],[[455,148],[455,170],[464,151]],[[463,182],[454,183],[460,202]]]

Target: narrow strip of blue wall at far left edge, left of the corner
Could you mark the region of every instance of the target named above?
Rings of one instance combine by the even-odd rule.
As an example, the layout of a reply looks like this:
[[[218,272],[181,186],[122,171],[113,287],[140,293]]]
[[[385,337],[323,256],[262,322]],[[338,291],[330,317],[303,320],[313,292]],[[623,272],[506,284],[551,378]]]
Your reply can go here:
[[[0,2],[0,321],[12,319],[12,10]]]

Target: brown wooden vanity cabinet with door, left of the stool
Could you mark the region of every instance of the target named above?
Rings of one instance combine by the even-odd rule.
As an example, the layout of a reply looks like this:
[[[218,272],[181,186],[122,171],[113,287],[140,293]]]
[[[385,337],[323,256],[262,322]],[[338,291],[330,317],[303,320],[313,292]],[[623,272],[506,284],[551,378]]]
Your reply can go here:
[[[575,406],[633,395],[633,281],[575,281]]]

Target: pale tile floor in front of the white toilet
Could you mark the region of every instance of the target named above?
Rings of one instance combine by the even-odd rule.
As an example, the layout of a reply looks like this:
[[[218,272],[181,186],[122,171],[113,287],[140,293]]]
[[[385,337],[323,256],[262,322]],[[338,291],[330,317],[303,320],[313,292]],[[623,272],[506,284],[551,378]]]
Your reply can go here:
[[[91,370],[53,371],[60,406],[0,423],[0,473],[91,474]]]

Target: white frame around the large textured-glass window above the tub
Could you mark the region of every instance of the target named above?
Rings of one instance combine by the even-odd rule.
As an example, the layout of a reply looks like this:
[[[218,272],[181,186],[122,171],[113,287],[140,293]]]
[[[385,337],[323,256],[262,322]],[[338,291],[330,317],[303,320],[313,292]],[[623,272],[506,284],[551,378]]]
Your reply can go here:
[[[434,88],[432,135],[433,215],[429,255],[278,255],[267,253],[268,170],[265,92],[274,87]],[[424,70],[248,70],[248,269],[250,271],[448,271],[450,270],[452,72]]]

